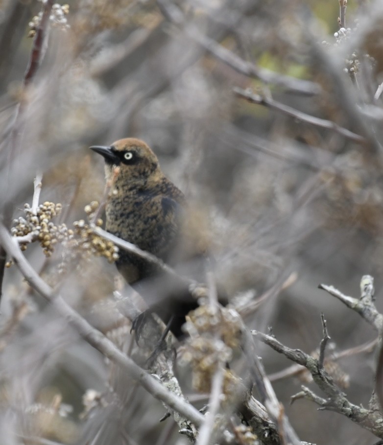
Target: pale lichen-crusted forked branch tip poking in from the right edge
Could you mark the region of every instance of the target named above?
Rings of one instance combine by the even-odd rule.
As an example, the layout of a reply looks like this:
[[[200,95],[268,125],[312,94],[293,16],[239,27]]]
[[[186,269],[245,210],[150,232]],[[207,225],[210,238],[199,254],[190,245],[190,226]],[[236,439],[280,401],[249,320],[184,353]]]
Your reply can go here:
[[[373,303],[373,298],[372,298],[373,278],[370,277],[369,275],[364,275],[362,277],[360,285],[363,286],[362,297],[360,298],[360,300],[344,295],[334,286],[328,286],[327,284],[319,284],[318,287],[319,289],[323,289],[327,291],[329,294],[336,297],[350,309],[353,309],[356,312],[358,312],[359,315],[363,317],[367,323],[372,325],[379,333],[381,333],[383,328],[383,315],[378,312],[375,304]],[[372,288],[368,290],[368,288],[371,286]],[[363,293],[363,288],[367,288],[367,291],[364,291],[365,293]]]

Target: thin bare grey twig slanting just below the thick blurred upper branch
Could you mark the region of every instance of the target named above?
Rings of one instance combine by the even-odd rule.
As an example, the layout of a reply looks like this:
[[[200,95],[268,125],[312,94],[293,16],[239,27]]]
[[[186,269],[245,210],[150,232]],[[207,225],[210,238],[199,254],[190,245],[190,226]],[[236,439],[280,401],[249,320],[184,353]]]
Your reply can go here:
[[[256,103],[258,105],[264,105],[273,110],[280,111],[287,116],[294,117],[295,119],[298,119],[302,122],[307,122],[317,127],[334,130],[336,133],[344,136],[347,139],[351,139],[352,141],[360,143],[366,142],[366,140],[362,136],[357,135],[350,130],[347,130],[347,128],[341,127],[331,120],[321,119],[320,117],[308,115],[288,105],[282,104],[274,99],[263,97],[260,94],[254,94],[250,89],[243,90],[242,88],[236,87],[234,88],[234,93],[237,94],[239,97],[243,97],[248,102]]]

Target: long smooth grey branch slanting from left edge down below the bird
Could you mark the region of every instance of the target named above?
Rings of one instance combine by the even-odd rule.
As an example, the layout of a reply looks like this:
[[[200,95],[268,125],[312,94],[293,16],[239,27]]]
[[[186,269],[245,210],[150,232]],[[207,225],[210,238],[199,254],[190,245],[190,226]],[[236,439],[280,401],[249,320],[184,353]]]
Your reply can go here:
[[[174,411],[179,412],[185,418],[190,419],[196,426],[202,425],[204,417],[189,403],[168,391],[162,383],[146,373],[134,361],[122,353],[116,346],[106,338],[99,330],[93,328],[83,317],[81,317],[71,306],[69,306],[60,295],[42,280],[21,252],[18,243],[8,233],[7,229],[0,224],[0,244],[14,260],[25,280],[45,299],[47,299],[57,312],[77,330],[96,350],[110,360],[118,363],[126,372],[137,380],[153,397],[166,403]]]

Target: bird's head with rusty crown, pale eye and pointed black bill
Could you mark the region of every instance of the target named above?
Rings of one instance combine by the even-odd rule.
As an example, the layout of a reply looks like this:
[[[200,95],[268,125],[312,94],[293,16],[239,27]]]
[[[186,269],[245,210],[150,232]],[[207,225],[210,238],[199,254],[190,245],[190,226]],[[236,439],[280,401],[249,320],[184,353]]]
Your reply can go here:
[[[90,148],[104,157],[107,179],[112,175],[114,165],[120,167],[119,178],[122,180],[144,180],[160,172],[157,156],[139,139],[120,139],[110,146]]]

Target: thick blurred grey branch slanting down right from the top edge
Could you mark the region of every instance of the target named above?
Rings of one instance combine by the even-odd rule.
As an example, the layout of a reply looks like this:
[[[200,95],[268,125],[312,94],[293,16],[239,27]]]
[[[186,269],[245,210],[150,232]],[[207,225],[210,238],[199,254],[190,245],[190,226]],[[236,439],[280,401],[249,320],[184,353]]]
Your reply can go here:
[[[260,79],[265,83],[283,86],[295,93],[312,95],[321,92],[320,86],[314,82],[295,79],[284,74],[266,70],[241,59],[237,54],[223,47],[215,40],[200,33],[196,28],[188,26],[183,13],[175,4],[168,0],[157,0],[157,4],[161,12],[171,23],[182,28],[182,31],[191,37],[194,42],[197,42],[216,59],[222,61],[239,73]]]

